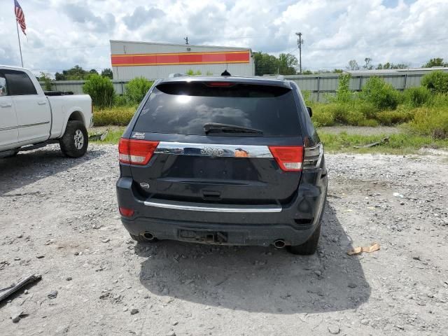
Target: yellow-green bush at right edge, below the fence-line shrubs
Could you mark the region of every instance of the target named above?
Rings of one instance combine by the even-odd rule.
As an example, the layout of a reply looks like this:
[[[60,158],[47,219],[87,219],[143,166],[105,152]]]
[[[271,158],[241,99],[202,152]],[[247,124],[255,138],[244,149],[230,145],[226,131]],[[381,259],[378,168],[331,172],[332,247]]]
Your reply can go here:
[[[430,135],[433,139],[448,139],[448,107],[416,109],[414,119],[406,127],[419,135]]]

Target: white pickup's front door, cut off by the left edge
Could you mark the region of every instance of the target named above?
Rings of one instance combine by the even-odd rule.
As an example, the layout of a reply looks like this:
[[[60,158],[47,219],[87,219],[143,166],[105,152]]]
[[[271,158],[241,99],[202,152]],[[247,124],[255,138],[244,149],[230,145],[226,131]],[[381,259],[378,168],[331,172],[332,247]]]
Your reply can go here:
[[[0,150],[13,148],[13,145],[18,142],[18,134],[13,99],[8,96],[6,78],[0,72]]]

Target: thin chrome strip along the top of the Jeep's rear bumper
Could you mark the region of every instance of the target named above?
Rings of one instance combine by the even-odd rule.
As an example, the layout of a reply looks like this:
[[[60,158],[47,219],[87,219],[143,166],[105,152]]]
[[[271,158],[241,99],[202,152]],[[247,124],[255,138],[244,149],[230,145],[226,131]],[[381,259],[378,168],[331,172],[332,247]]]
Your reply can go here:
[[[146,201],[144,204],[148,207],[156,207],[163,209],[187,210],[187,211],[204,211],[204,212],[235,212],[235,213],[273,213],[281,212],[282,208],[279,205],[252,205],[252,206],[231,206],[226,204],[216,204],[215,207],[197,207],[187,205],[188,203],[153,200]]]

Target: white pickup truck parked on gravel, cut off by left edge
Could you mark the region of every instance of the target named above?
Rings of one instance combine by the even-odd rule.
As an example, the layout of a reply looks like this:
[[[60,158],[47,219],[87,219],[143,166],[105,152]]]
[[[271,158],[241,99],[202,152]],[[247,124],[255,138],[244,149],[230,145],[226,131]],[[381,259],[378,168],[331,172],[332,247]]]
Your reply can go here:
[[[88,94],[43,92],[31,71],[0,65],[0,157],[59,142],[64,155],[79,158],[91,124]]]

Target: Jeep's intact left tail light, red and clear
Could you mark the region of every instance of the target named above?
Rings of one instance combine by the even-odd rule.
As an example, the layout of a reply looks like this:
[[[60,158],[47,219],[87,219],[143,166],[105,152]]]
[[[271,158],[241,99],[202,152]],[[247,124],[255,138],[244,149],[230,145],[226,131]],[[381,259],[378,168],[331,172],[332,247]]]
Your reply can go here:
[[[132,165],[146,165],[151,160],[158,145],[159,141],[121,138],[118,145],[120,162]]]

